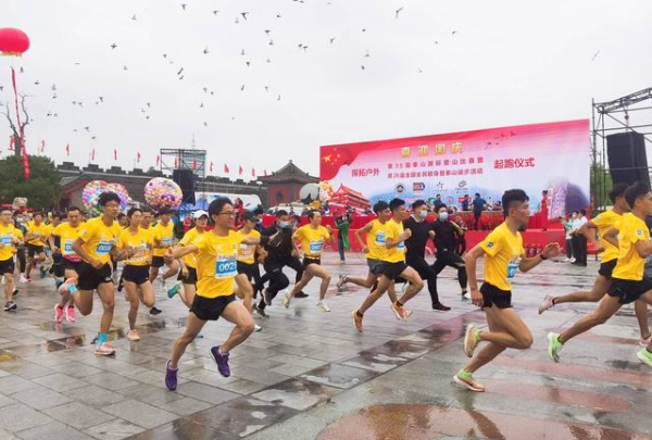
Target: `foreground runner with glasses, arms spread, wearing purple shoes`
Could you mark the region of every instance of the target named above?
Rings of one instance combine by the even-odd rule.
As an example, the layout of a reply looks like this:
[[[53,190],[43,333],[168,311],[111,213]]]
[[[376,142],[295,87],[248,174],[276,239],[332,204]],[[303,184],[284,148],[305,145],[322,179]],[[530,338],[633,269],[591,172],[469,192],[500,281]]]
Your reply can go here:
[[[209,205],[209,215],[215,223],[213,229],[199,236],[191,244],[168,249],[168,255],[175,259],[197,254],[197,294],[186,322],[186,330],[173,345],[170,361],[165,372],[165,386],[168,390],[176,390],[178,362],[186,347],[195,340],[208,320],[217,320],[221,316],[236,325],[228,339],[221,345],[211,348],[211,356],[217,364],[217,370],[224,377],[230,376],[228,366],[229,352],[244,342],[253,331],[253,318],[244,305],[236,301],[234,280],[237,278],[238,246],[259,244],[261,240],[267,242],[269,238],[241,237],[231,230],[235,211],[229,199],[218,198]]]

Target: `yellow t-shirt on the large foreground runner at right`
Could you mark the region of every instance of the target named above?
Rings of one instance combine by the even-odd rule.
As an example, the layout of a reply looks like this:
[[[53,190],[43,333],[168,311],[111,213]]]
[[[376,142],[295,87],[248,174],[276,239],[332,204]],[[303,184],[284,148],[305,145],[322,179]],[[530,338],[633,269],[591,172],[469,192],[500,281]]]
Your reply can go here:
[[[514,278],[523,249],[521,232],[512,234],[506,223],[493,229],[480,242],[480,248],[487,253],[485,257],[485,282],[501,290],[512,290],[511,279]]]

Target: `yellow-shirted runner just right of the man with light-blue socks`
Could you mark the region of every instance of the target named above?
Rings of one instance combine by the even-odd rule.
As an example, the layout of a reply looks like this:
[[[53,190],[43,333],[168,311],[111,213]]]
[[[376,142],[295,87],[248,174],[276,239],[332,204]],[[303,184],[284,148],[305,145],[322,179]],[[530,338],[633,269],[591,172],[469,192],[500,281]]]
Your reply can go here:
[[[154,305],[154,289],[149,280],[149,264],[154,248],[152,236],[140,227],[142,212],[138,208],[131,208],[127,212],[129,226],[122,229],[120,235],[118,260],[124,260],[122,273],[123,285],[127,291],[125,299],[129,301],[129,332],[130,341],[139,341],[140,336],[136,330],[136,317],[140,302],[146,307]]]

